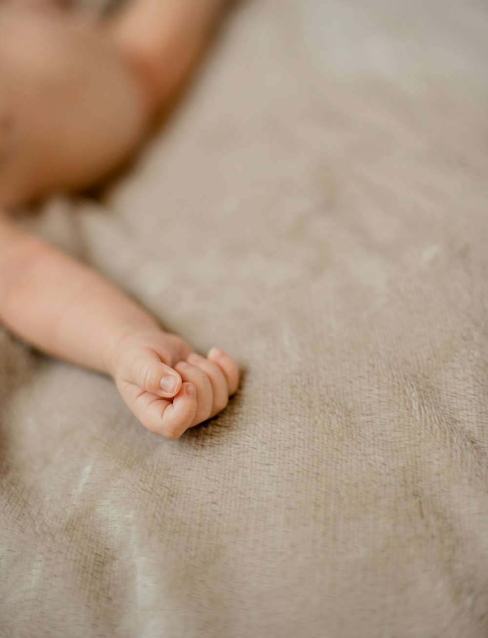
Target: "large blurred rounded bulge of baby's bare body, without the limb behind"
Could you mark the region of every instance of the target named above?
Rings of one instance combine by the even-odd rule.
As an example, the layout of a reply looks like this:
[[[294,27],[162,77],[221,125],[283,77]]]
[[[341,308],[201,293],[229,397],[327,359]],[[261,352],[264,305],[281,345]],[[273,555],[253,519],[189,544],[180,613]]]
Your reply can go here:
[[[121,54],[69,13],[0,6],[0,96],[3,205],[90,186],[129,156],[149,123]]]

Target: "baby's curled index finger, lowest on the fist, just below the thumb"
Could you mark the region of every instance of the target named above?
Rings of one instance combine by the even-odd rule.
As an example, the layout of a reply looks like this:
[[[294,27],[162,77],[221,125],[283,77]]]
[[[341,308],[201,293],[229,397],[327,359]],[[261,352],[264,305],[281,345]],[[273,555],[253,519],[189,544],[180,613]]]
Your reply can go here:
[[[126,403],[149,431],[175,439],[191,426],[195,418],[196,390],[192,383],[183,383],[173,402],[143,392],[134,401],[129,399]]]

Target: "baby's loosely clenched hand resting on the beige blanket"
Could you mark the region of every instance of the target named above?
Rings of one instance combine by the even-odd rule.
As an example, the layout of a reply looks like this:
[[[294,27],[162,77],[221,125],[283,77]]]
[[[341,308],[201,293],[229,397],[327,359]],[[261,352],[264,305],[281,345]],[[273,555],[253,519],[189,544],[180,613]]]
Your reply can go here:
[[[179,337],[157,329],[122,339],[110,371],[142,425],[168,439],[223,410],[239,383],[237,365],[222,350],[200,357]]]

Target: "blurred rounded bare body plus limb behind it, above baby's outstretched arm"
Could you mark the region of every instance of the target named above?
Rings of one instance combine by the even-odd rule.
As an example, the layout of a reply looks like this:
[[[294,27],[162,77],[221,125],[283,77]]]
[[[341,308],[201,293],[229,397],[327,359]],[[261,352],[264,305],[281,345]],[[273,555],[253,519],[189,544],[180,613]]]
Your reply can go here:
[[[86,188],[121,165],[186,77],[222,3],[138,0],[100,25],[0,3],[9,122],[0,204]]]

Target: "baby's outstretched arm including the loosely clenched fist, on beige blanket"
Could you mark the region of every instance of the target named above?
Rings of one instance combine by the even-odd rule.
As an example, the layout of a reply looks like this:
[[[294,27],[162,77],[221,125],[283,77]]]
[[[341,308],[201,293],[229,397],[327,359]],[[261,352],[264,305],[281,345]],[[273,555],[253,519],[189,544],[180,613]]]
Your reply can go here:
[[[228,355],[214,348],[200,357],[96,272],[1,212],[0,320],[55,357],[113,376],[142,424],[166,438],[218,413],[237,389]]]

